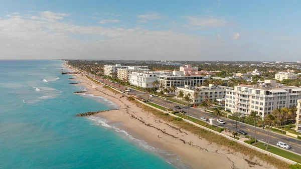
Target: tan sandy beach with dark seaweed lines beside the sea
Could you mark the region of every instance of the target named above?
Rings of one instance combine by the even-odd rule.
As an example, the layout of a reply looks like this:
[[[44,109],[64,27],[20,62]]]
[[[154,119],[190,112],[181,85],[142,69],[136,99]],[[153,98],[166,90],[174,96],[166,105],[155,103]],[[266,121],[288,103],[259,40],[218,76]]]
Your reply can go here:
[[[172,123],[156,118],[152,113],[145,112],[128,101],[126,97],[103,88],[103,85],[95,84],[86,76],[76,77],[74,80],[82,81],[81,85],[90,90],[87,93],[105,97],[119,108],[124,108],[94,116],[121,123],[118,128],[127,131],[136,139],[144,140],[148,145],[177,154],[180,160],[191,168],[274,168],[260,159],[250,159],[226,147],[219,147]]]

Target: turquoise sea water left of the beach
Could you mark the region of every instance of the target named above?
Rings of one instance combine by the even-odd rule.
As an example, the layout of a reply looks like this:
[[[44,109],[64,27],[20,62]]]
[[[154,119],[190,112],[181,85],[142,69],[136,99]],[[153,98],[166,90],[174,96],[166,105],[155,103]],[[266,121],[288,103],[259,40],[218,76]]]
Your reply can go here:
[[[185,168],[105,119],[75,117],[116,105],[73,94],[83,88],[68,84],[62,64],[0,61],[0,168]]]

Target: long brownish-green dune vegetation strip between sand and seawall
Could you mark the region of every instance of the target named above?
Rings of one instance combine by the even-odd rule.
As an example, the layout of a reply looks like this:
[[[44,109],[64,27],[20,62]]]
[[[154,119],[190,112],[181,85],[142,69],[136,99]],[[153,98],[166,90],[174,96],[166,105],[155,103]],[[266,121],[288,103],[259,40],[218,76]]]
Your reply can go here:
[[[193,124],[185,122],[184,120],[175,120],[169,114],[163,113],[163,112],[161,112],[159,110],[156,110],[154,108],[145,106],[145,105],[139,103],[138,101],[133,100],[133,98],[128,98],[128,100],[132,101],[133,103],[135,103],[139,106],[141,106],[144,111],[150,112],[158,118],[161,118],[161,119],[163,119],[167,122],[171,122],[171,123],[177,125],[178,127],[182,128],[182,129],[190,131],[191,133],[196,134],[197,136],[199,136],[201,138],[204,138],[209,142],[214,142],[218,146],[228,147],[233,151],[237,151],[237,152],[243,153],[245,155],[249,155],[250,157],[256,156],[259,159],[264,160],[264,161],[270,163],[271,165],[274,165],[277,168],[287,168],[288,167],[288,163],[286,163],[282,160],[279,160],[278,158],[275,158],[273,156],[269,156],[269,155],[266,155],[264,153],[261,153],[257,150],[254,150],[252,148],[249,148],[247,146],[239,144],[235,141],[229,140],[228,138],[226,138],[224,136],[218,135],[214,132],[202,129],[202,128],[197,127]]]

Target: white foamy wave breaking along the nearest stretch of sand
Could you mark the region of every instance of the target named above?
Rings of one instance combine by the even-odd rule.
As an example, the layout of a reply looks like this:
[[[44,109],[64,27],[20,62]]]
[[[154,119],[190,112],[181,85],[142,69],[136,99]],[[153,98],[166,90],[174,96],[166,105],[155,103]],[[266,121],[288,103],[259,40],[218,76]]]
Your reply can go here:
[[[91,120],[94,125],[99,125],[99,126],[108,128],[112,131],[118,132],[118,134],[120,134],[125,139],[132,142],[133,144],[137,145],[138,147],[140,147],[142,149],[145,149],[147,151],[150,151],[154,154],[162,156],[163,158],[165,158],[166,162],[176,166],[177,168],[181,168],[181,169],[189,169],[190,168],[187,164],[185,164],[184,162],[181,161],[180,157],[177,154],[170,153],[166,150],[162,150],[162,149],[150,146],[145,141],[134,138],[133,136],[128,134],[126,131],[107,124],[107,122],[109,122],[109,121],[106,120],[106,119],[103,119],[103,118],[100,118],[100,117],[95,117],[95,116],[87,116],[87,118],[89,120]]]

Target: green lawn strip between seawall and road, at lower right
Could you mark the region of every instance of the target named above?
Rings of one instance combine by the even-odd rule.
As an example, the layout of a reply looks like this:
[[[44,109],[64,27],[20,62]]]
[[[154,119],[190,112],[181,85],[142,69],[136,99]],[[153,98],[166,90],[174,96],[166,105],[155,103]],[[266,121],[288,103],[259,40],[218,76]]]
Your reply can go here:
[[[294,153],[291,153],[289,151],[286,151],[282,148],[278,148],[278,147],[274,147],[274,146],[268,146],[268,149],[265,149],[265,145],[263,142],[257,142],[257,144],[251,144],[253,146],[256,146],[260,149],[264,149],[266,151],[269,151],[271,153],[274,153],[274,154],[277,154],[277,155],[280,155],[284,158],[287,158],[287,159],[290,159],[290,160],[293,160],[295,162],[298,162],[298,163],[301,163],[301,156],[300,155],[297,155],[297,154],[294,154]]]

